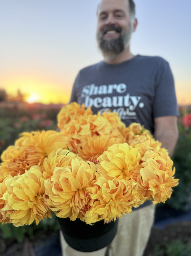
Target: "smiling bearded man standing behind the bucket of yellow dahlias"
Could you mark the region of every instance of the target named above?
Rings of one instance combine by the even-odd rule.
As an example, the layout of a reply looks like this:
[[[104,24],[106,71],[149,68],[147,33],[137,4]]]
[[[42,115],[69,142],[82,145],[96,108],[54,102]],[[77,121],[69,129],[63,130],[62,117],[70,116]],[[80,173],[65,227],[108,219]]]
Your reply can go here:
[[[160,57],[131,53],[130,39],[136,27],[133,0],[101,1],[97,9],[97,42],[104,60],[78,73],[70,102],[84,102],[94,113],[116,111],[126,126],[131,122],[144,125],[171,157],[178,137],[172,72]],[[107,248],[67,254],[65,243],[64,255],[143,255],[154,219],[151,203],[147,201],[119,219],[118,233]]]

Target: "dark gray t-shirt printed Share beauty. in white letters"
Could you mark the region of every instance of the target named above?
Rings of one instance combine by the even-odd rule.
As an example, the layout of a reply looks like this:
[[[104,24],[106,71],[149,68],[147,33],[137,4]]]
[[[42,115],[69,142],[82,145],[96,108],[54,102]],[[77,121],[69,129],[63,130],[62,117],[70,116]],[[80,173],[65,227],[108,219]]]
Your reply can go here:
[[[70,102],[85,103],[95,114],[118,112],[126,126],[138,122],[152,133],[153,118],[178,116],[173,75],[161,57],[136,55],[116,65],[101,61],[83,68]]]

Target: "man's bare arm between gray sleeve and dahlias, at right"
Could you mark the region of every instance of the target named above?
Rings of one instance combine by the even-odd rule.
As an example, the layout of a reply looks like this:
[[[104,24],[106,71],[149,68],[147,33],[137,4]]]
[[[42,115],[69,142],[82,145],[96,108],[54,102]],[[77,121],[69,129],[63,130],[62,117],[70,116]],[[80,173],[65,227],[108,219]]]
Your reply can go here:
[[[154,119],[154,138],[162,143],[172,157],[178,139],[177,116],[163,116]]]

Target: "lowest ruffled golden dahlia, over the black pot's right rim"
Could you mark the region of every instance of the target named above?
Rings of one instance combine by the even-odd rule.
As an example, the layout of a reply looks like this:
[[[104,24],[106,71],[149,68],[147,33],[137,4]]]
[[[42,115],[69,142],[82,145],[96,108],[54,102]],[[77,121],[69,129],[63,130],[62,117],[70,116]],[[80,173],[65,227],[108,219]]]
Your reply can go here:
[[[138,198],[138,185],[132,180],[125,179],[108,179],[98,177],[94,187],[97,185],[97,190],[90,193],[94,199],[94,204],[89,211],[86,212],[85,221],[87,224],[95,223],[96,221],[116,220],[121,218],[122,214],[130,213],[132,206],[140,204]]]

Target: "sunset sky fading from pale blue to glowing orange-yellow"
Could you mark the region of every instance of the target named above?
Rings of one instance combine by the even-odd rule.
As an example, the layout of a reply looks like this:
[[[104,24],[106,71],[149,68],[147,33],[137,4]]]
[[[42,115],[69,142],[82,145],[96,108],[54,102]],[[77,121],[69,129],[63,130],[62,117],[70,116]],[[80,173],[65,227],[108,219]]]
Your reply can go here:
[[[99,0],[0,0],[0,89],[28,102],[67,103],[78,71],[102,59],[95,40]],[[191,104],[191,1],[135,0],[133,54],[172,69],[178,104]]]

